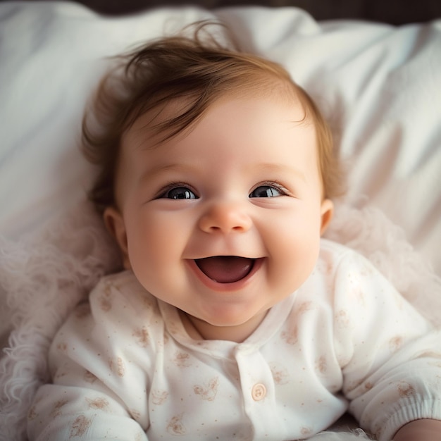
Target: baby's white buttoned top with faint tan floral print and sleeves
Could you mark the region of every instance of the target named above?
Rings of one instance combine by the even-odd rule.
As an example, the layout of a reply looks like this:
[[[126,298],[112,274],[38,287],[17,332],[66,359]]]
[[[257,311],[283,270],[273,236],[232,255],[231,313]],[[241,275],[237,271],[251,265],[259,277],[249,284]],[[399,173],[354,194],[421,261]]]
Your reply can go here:
[[[54,340],[30,440],[292,440],[347,409],[379,440],[441,419],[440,333],[371,263],[322,240],[309,280],[245,342],[194,340],[130,271]]]

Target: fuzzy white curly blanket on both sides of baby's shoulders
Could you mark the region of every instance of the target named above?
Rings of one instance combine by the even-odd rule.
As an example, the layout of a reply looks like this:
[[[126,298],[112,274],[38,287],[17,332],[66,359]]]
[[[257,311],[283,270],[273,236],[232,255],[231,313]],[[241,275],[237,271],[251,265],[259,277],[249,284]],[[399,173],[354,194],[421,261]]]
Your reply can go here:
[[[337,206],[327,237],[359,250],[424,315],[441,325],[441,280],[378,209]],[[75,304],[120,262],[87,203],[18,242],[0,237],[1,330],[11,330],[0,359],[0,439],[26,440],[27,409],[49,380],[46,354]],[[340,429],[341,430],[341,429]],[[316,441],[370,439],[362,430],[325,432]]]

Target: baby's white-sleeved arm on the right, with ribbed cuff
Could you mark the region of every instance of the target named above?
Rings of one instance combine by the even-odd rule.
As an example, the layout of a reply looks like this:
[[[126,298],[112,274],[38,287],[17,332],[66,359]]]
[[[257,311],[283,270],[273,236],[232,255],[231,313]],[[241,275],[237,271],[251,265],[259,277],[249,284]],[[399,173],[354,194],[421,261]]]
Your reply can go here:
[[[347,351],[340,358],[347,359],[343,390],[350,411],[382,441],[394,435],[411,440],[407,433],[423,428],[423,421],[436,429],[441,424],[441,332],[366,259],[352,256],[341,266],[336,346]],[[423,441],[423,435],[416,440]]]

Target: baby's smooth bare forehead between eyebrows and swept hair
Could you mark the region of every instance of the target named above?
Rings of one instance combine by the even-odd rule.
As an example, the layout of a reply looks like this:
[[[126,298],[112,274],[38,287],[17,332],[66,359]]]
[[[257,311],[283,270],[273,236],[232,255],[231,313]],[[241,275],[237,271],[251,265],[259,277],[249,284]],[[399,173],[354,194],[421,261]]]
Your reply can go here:
[[[139,117],[123,138],[122,157],[137,161],[168,163],[202,156],[224,162],[242,163],[295,161],[316,163],[316,131],[306,116],[302,102],[286,97],[223,97],[216,100],[201,118],[178,135],[163,140],[163,133],[151,128],[151,121],[169,120],[182,111],[168,104],[160,112]],[[185,104],[184,104],[185,107]],[[169,130],[172,130],[170,128]],[[166,134],[167,135],[167,134]],[[148,167],[148,164],[144,164]]]

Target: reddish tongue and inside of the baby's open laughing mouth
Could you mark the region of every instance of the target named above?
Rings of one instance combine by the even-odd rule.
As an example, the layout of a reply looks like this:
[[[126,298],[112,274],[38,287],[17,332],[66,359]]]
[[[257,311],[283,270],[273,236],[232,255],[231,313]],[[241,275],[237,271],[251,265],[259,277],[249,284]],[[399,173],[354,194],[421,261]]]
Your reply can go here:
[[[195,262],[207,277],[219,283],[237,282],[248,275],[253,267],[253,259],[235,256],[207,257]]]

